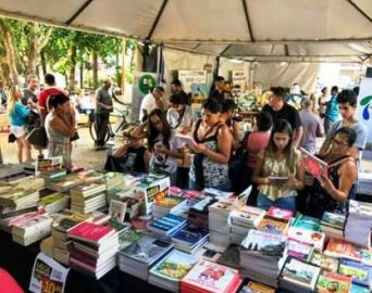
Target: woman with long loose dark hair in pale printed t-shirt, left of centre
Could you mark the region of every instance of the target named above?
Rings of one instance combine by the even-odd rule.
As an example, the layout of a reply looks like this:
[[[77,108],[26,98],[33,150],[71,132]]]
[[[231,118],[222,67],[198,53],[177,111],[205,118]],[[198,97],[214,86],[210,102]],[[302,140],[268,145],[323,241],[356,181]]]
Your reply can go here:
[[[183,158],[185,152],[182,143],[175,138],[175,130],[171,128],[163,111],[153,110],[148,119],[133,130],[131,136],[135,139],[147,138],[151,152],[149,171],[170,176],[171,184],[174,184],[176,158]]]

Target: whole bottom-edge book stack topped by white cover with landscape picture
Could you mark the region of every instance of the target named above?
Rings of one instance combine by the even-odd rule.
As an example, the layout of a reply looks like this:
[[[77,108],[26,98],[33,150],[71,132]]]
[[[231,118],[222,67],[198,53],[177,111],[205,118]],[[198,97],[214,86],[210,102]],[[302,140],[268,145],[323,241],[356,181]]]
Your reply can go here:
[[[313,292],[321,268],[288,257],[280,276],[280,288],[289,292]]]

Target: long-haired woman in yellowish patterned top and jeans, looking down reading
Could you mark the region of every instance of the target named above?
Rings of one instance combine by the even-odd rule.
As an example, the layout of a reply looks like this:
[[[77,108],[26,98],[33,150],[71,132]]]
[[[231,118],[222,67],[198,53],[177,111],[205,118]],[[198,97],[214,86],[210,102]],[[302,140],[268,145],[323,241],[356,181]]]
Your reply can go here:
[[[296,213],[297,190],[303,189],[305,169],[292,138],[289,123],[277,120],[268,148],[257,157],[252,179],[259,190],[258,207],[277,206]]]

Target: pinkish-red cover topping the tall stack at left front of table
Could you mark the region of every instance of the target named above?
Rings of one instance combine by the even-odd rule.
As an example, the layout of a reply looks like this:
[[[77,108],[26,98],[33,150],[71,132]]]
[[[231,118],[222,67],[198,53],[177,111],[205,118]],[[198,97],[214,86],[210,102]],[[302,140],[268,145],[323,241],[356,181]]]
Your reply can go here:
[[[100,240],[114,232],[115,230],[112,227],[85,221],[71,229],[69,237],[99,243]]]

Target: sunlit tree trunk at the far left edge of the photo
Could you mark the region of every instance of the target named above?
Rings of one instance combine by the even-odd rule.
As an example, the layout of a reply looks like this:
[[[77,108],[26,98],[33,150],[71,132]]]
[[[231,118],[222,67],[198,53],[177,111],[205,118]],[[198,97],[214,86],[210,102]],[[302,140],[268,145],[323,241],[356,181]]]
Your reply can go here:
[[[16,49],[14,47],[13,35],[3,20],[0,18],[0,35],[5,48],[5,56],[9,66],[10,81],[12,84],[20,84],[18,69],[16,67]]]

